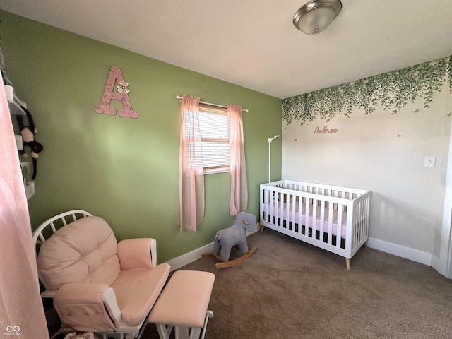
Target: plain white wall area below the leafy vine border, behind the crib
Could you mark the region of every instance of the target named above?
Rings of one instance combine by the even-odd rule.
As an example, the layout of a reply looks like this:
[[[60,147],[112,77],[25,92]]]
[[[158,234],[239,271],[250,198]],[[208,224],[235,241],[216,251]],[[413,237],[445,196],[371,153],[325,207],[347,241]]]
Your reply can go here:
[[[371,190],[374,244],[425,254],[413,260],[430,264],[441,246],[451,97],[444,85],[428,109],[418,100],[398,114],[354,108],[350,118],[283,122],[282,177]],[[338,132],[314,134],[317,126]],[[426,156],[436,157],[435,167],[424,167]]]

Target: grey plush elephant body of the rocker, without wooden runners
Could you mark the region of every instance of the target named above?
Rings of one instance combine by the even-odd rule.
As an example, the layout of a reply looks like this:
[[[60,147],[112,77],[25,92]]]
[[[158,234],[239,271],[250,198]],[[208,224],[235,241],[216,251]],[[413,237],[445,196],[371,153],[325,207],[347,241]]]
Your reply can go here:
[[[212,253],[217,256],[220,254],[222,261],[229,260],[231,249],[234,246],[237,246],[244,254],[248,253],[246,231],[253,231],[255,225],[256,216],[254,214],[240,212],[235,218],[234,225],[217,232],[215,235],[215,242],[213,243]]]

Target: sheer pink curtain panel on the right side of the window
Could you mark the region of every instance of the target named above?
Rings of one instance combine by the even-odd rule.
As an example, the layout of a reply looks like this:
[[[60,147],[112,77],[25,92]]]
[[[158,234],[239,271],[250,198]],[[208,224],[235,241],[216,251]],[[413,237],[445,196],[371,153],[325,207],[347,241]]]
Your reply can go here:
[[[227,119],[229,122],[231,159],[231,201],[229,209],[230,215],[237,215],[248,208],[242,106],[227,105]]]

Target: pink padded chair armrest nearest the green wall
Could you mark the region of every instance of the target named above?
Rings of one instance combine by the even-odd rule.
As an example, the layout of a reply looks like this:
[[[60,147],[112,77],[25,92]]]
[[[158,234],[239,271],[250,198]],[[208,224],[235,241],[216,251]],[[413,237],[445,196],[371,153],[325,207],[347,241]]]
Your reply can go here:
[[[149,269],[157,266],[157,242],[152,238],[121,240],[117,246],[121,270]]]

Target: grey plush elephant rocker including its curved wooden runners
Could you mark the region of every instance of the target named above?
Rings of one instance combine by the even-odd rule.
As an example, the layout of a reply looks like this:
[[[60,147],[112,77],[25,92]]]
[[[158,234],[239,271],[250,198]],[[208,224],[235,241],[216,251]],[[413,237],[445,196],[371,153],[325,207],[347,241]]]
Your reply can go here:
[[[227,268],[237,265],[237,263],[241,263],[257,251],[256,247],[248,250],[248,244],[246,243],[246,231],[251,232],[254,230],[256,216],[251,213],[240,212],[234,219],[234,225],[218,231],[215,235],[212,253],[202,255],[203,258],[215,256],[215,258],[222,261],[221,263],[216,263],[215,268]],[[230,261],[232,247],[239,249],[243,255]]]

